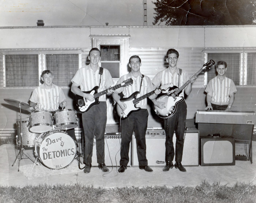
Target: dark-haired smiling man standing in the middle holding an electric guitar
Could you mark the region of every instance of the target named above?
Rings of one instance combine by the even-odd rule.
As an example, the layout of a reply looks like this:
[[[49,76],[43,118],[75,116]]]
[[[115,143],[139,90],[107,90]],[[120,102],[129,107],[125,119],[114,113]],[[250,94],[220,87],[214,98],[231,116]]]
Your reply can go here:
[[[140,73],[141,59],[138,55],[133,55],[129,59],[129,68],[131,72],[122,76],[117,84],[124,80],[132,78],[133,85],[129,87],[121,87],[116,89],[112,97],[117,102],[117,112],[121,116],[121,160],[119,173],[123,173],[127,169],[129,162],[129,147],[132,140],[133,131],[135,131],[135,138],[137,143],[137,154],[139,161],[139,168],[147,172],[153,172],[148,166],[146,158],[146,130],[147,130],[147,97],[155,99],[156,94],[161,91],[155,90],[149,77]],[[118,94],[123,93],[124,98],[120,100]]]

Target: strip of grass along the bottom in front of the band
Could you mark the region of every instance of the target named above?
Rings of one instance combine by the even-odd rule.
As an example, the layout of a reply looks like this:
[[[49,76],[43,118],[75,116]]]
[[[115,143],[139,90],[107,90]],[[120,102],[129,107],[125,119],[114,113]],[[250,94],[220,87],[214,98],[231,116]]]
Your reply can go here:
[[[94,188],[75,185],[0,187],[0,203],[255,203],[256,186],[203,182],[196,187]]]

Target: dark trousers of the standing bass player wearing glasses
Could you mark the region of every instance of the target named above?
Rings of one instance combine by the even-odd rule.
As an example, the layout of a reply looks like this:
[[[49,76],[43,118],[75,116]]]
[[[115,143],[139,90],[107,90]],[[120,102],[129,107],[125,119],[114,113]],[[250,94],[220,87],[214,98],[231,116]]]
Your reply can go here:
[[[168,118],[164,119],[164,127],[166,133],[166,142],[165,142],[165,162],[173,161],[175,154],[175,161],[182,161],[182,153],[184,146],[184,132],[186,126],[186,117],[187,117],[187,104],[185,101],[181,102],[177,106],[176,113]],[[176,135],[176,145],[175,153],[173,146],[173,134],[175,131]]]

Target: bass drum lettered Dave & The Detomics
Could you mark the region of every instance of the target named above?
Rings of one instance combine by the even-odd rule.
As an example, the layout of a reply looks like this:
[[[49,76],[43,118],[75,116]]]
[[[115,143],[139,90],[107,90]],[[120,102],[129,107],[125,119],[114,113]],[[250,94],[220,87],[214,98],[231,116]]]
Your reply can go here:
[[[76,143],[67,133],[51,130],[42,133],[35,142],[35,156],[50,169],[69,166],[76,156]]]

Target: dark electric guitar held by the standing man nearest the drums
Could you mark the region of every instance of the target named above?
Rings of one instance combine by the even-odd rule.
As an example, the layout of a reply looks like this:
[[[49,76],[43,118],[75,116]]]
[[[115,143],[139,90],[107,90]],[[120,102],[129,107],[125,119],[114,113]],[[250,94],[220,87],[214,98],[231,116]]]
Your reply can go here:
[[[97,92],[99,86],[95,86],[90,91],[84,92],[84,93],[87,93],[87,94],[91,94],[94,97],[94,100],[89,101],[88,99],[86,99],[82,96],[76,95],[76,105],[78,106],[78,109],[79,109],[80,112],[86,112],[91,108],[91,106],[93,106],[95,104],[99,104],[99,97],[102,96],[102,95],[105,95],[108,90],[110,90],[110,89],[115,90],[117,88],[126,87],[126,86],[131,85],[131,84],[133,84],[133,80],[132,80],[132,78],[129,78],[128,80],[123,81],[123,83],[117,84],[117,85],[115,85],[113,87],[110,87],[108,89],[105,89],[101,92]]]

